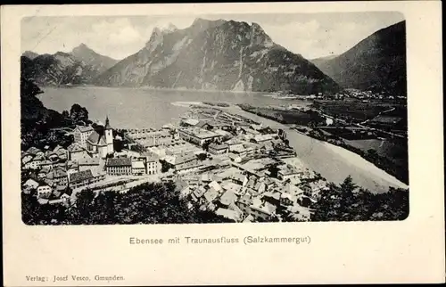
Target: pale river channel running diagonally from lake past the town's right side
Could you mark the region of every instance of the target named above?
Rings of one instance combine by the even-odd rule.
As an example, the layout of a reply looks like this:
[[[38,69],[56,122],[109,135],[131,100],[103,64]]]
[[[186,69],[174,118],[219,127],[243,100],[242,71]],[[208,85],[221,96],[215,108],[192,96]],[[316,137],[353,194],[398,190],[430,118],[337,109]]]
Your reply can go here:
[[[335,184],[341,184],[345,177],[351,176],[355,183],[372,193],[386,193],[389,187],[407,189],[408,185],[374,164],[332,143],[326,143],[308,135],[303,135],[272,119],[265,119],[240,107],[232,105],[222,110],[255,120],[269,127],[283,128],[290,145],[304,164]]]

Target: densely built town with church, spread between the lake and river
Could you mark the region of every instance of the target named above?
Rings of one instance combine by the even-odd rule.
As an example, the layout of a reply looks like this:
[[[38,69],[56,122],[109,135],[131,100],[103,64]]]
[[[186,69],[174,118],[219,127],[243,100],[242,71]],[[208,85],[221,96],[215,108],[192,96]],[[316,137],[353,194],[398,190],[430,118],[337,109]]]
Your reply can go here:
[[[188,206],[234,222],[306,221],[326,180],[304,168],[284,130],[215,107],[193,106],[178,126],[77,126],[67,149],[21,152],[22,192],[40,204],[76,204],[76,193],[126,193],[173,181]],[[123,148],[116,149],[117,143]]]

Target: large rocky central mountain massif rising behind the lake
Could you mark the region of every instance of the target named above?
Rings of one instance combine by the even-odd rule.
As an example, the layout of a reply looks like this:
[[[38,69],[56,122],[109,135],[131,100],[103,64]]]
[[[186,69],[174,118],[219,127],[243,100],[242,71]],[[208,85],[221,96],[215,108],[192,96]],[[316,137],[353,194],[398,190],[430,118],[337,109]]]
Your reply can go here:
[[[297,94],[339,89],[310,61],[275,44],[258,24],[200,18],[186,29],[153,29],[145,47],[94,82]]]

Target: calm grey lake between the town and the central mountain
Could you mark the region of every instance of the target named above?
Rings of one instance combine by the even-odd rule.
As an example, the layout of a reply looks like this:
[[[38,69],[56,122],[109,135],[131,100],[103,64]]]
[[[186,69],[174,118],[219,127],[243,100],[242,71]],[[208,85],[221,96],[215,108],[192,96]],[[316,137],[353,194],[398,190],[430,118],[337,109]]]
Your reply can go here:
[[[232,102],[253,105],[280,104],[286,102],[310,102],[277,99],[260,93],[230,93],[154,90],[144,88],[113,88],[99,86],[43,87],[38,98],[45,107],[55,111],[70,111],[73,103],[88,110],[89,119],[105,120],[108,115],[111,127],[147,128],[162,127],[176,122],[187,111],[187,106],[172,102]]]

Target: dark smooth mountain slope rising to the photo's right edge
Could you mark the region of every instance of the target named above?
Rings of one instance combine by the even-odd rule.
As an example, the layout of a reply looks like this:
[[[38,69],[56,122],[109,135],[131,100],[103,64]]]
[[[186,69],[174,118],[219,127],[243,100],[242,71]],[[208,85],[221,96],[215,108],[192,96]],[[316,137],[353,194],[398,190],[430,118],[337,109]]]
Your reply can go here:
[[[334,59],[313,63],[343,87],[406,95],[406,22],[376,31]]]

